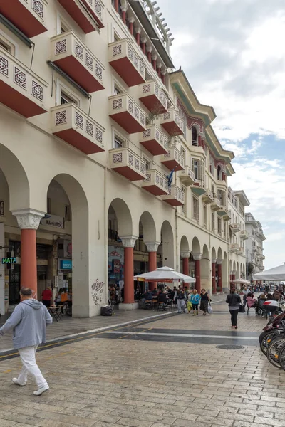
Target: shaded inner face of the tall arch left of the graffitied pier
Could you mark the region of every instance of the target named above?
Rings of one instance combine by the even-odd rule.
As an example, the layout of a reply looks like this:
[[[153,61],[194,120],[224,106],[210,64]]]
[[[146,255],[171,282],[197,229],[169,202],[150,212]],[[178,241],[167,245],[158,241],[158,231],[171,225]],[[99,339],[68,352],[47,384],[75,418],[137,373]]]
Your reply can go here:
[[[73,176],[58,174],[53,179],[61,185],[71,204],[73,316],[90,317],[95,312],[91,310],[90,304],[92,279],[89,269],[92,263],[89,249],[88,200],[83,187]],[[95,256],[95,252],[92,255]]]

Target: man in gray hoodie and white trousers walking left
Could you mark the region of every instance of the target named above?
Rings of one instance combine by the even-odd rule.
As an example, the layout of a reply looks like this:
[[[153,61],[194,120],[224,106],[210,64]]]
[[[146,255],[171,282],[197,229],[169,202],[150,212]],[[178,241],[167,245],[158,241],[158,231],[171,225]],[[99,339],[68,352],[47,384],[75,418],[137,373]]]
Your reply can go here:
[[[13,330],[14,349],[19,351],[23,364],[18,378],[12,381],[19,386],[26,386],[27,376],[31,374],[38,387],[33,394],[40,396],[49,387],[36,364],[36,350],[38,344],[46,342],[46,326],[51,325],[53,319],[42,302],[33,300],[32,294],[31,289],[21,288],[21,302],[0,328],[0,335]]]

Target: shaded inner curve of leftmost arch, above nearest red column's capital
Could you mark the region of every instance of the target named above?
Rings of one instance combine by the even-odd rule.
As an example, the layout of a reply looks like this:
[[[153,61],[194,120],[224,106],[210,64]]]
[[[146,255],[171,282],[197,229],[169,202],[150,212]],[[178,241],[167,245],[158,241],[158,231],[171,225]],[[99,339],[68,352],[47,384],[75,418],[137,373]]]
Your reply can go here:
[[[25,169],[7,147],[0,144],[0,169],[9,187],[9,209],[18,211],[30,206],[30,186]]]

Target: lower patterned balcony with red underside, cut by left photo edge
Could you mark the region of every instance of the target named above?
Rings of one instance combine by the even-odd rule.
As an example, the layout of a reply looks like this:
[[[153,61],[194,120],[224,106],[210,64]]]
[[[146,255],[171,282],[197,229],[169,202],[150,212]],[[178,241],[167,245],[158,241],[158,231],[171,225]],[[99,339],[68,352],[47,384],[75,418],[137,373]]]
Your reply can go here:
[[[47,83],[0,47],[0,102],[24,117],[47,112]]]

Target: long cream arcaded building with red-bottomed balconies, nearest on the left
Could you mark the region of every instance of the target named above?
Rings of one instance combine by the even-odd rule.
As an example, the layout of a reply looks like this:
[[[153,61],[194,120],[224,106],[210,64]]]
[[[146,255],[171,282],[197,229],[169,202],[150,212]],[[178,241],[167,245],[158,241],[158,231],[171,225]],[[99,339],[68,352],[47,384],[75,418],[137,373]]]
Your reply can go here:
[[[73,315],[97,315],[113,281],[131,309],[133,275],[162,264],[227,288],[234,154],[170,72],[157,8],[15,0],[0,14],[0,311],[21,283],[66,288]]]

